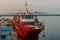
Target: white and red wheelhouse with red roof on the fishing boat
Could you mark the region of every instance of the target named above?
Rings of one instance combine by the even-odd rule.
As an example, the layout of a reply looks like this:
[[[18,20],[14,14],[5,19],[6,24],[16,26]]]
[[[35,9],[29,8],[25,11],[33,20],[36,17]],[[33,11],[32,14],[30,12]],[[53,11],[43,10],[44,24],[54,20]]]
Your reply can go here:
[[[20,14],[20,21],[25,25],[35,25],[35,16],[33,14]]]

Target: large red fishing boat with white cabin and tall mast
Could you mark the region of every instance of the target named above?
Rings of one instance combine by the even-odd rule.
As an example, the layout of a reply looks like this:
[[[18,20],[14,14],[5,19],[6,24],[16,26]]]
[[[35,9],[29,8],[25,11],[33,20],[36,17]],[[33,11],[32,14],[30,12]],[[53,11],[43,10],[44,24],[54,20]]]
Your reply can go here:
[[[27,2],[26,4],[26,13],[20,14],[17,13],[14,17],[13,24],[14,29],[17,33],[16,40],[37,40],[39,33],[44,30],[44,22],[38,21],[38,15],[28,12]]]

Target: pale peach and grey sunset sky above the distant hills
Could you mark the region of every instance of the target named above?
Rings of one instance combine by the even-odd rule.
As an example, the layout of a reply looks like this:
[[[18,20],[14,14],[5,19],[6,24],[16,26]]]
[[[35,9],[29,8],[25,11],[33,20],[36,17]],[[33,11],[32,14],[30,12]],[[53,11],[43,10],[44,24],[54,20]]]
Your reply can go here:
[[[60,0],[27,0],[30,12],[60,14]],[[25,11],[25,0],[0,0],[0,13]]]

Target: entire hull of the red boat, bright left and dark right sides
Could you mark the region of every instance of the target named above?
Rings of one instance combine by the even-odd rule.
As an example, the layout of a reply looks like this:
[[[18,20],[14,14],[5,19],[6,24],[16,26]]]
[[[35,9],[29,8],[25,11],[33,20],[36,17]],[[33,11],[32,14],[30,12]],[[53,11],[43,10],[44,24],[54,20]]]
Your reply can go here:
[[[18,23],[16,23],[14,25],[15,30],[17,32],[17,34],[21,35],[22,37],[25,37],[27,35],[30,36],[37,36],[43,29],[44,27],[40,27],[40,28],[26,28],[24,26],[20,26]]]

